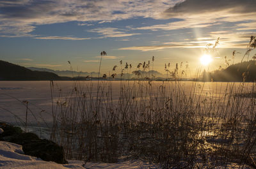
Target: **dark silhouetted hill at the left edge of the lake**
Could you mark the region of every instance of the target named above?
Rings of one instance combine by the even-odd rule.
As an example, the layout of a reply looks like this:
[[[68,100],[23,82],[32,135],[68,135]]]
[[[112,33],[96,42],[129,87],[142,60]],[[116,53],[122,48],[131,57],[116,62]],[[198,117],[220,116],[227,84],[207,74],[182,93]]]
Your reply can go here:
[[[61,80],[61,77],[51,72],[32,71],[17,64],[0,61],[0,80]]]

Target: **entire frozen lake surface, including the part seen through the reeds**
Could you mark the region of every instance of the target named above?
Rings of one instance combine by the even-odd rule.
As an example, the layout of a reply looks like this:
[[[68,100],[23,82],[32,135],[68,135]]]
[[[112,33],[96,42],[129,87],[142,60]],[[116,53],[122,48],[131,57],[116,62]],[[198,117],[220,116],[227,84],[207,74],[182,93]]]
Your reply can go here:
[[[88,154],[95,143],[102,150],[116,143],[113,150],[120,157],[144,153],[148,145],[149,153],[163,152],[169,143],[177,147],[166,151],[171,154],[216,152],[226,145],[239,150],[255,133],[250,93],[255,93],[253,83],[60,81],[52,87],[47,81],[0,82],[0,120],[21,121],[24,129],[28,103],[26,131],[52,136],[65,150],[71,147],[67,156],[77,159],[81,149]]]

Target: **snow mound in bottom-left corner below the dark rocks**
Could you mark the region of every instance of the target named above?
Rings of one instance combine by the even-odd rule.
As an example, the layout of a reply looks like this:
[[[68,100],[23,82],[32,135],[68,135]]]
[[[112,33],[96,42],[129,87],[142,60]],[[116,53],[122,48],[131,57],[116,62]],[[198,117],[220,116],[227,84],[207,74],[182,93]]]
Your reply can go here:
[[[68,164],[60,165],[54,162],[42,161],[32,156],[27,156],[22,151],[22,146],[10,143],[0,142],[0,168],[26,168],[26,169],[45,169],[45,168],[83,168],[81,165]],[[84,169],[84,168],[83,168]]]

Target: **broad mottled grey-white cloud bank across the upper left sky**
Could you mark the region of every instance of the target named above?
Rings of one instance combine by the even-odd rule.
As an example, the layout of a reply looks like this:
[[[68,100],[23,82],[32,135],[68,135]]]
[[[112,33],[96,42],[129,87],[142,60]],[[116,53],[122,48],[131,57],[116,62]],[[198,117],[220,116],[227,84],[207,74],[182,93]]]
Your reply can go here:
[[[181,0],[4,0],[0,1],[1,33],[28,34],[39,25],[71,21],[111,22],[134,17],[159,18],[163,10],[177,1]]]

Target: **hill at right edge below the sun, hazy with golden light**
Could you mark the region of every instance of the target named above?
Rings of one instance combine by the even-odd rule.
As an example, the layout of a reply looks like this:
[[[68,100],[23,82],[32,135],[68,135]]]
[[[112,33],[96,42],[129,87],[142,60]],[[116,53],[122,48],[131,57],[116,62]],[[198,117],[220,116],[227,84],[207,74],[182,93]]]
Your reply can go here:
[[[205,72],[202,81],[209,82],[256,82],[256,61],[239,62],[223,70]]]

